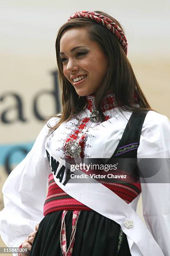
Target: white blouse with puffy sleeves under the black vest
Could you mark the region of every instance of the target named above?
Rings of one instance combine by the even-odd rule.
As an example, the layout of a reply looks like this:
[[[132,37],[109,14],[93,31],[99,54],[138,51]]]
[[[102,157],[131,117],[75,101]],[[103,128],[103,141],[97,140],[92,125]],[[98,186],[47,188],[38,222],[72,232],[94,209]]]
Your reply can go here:
[[[106,114],[111,115],[109,120],[89,128],[84,149],[86,158],[112,156],[132,114],[127,111],[122,113],[118,108],[108,110]],[[35,230],[35,225],[44,218],[43,205],[48,175],[51,173],[45,150],[50,148],[50,151],[63,158],[61,148],[64,138],[76,128],[77,117],[85,116],[89,116],[87,109],[76,118],[62,123],[53,133],[49,133],[50,129],[45,124],[31,151],[8,176],[2,188],[5,207],[0,212],[0,234],[7,246],[20,246],[28,234]],[[53,126],[57,120],[51,118],[48,124]],[[166,116],[155,111],[147,113],[137,156],[139,159],[170,159],[170,121]],[[166,164],[161,172],[167,183],[141,183],[141,189],[146,225],[164,255],[170,256],[170,161]]]

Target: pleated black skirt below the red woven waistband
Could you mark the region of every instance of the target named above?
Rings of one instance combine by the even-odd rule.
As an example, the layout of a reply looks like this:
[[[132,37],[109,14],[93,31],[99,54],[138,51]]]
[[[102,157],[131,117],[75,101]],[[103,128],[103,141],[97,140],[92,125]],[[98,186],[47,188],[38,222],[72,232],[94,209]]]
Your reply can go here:
[[[62,210],[47,214],[40,222],[30,256],[62,256],[60,247]],[[65,216],[67,248],[72,232],[72,210]],[[121,239],[120,239],[121,238]],[[120,225],[95,211],[81,211],[72,256],[131,256]]]

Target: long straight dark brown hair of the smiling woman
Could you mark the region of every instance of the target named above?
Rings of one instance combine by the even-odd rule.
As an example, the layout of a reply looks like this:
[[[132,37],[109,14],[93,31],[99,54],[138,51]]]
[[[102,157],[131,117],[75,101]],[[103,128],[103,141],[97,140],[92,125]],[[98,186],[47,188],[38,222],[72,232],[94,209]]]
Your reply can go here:
[[[110,18],[123,31],[120,23],[112,16],[100,11],[95,11],[95,13],[99,13]],[[103,53],[108,57],[109,60],[109,67],[105,79],[95,93],[95,107],[99,111],[102,121],[105,119],[100,109],[100,102],[110,90],[112,90],[112,92],[115,94],[117,105],[121,106],[119,107],[120,110],[122,109],[130,112],[152,110],[138,84],[131,64],[117,38],[115,38],[115,36],[107,28],[93,20],[86,18],[75,18],[67,21],[60,27],[56,38],[55,48],[58,65],[58,78],[62,90],[62,113],[61,115],[55,115],[56,117],[60,115],[60,121],[54,127],[50,128],[55,130],[61,123],[70,120],[74,115],[82,111],[87,106],[86,97],[79,97],[75,91],[75,88],[64,76],[62,62],[60,59],[60,39],[62,34],[69,28],[77,27],[87,28],[90,40],[96,41],[101,46]],[[133,103],[134,95],[137,98],[140,108],[135,106]]]

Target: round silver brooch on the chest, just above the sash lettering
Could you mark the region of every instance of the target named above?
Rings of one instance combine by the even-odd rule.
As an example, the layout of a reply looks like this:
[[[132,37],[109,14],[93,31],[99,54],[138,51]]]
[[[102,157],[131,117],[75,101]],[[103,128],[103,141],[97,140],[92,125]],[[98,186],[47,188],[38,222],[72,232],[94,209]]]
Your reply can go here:
[[[65,145],[66,152],[68,156],[78,157],[81,152],[81,146],[76,140],[68,141]]]

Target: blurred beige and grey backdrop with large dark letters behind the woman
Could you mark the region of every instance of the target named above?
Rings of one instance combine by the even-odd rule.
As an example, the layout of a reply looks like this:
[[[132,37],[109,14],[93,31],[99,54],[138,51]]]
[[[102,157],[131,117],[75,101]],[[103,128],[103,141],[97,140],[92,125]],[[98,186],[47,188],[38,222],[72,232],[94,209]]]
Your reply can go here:
[[[1,0],[0,210],[5,179],[30,151],[42,120],[61,109],[55,38],[80,10],[104,11],[122,24],[143,92],[153,109],[170,118],[169,0]],[[143,219],[141,199],[138,214]]]

